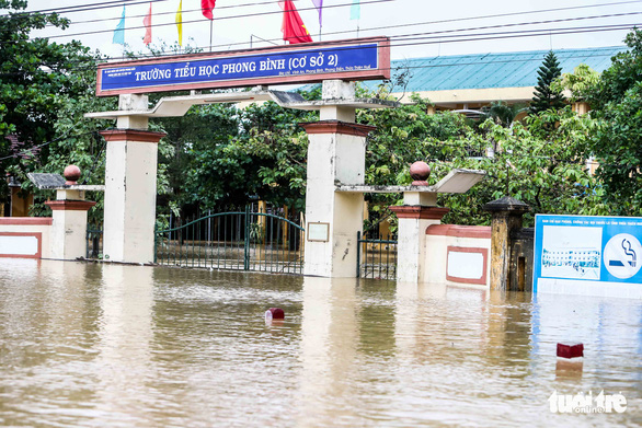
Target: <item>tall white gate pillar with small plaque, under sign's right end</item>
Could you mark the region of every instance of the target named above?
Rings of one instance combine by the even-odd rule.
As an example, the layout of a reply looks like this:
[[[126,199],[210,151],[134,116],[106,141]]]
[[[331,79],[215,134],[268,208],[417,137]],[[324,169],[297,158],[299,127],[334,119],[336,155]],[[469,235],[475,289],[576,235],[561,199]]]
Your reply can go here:
[[[300,124],[309,136],[305,275],[356,276],[364,195],[334,192],[336,183],[364,184],[366,137],[375,127],[355,124],[355,107],[341,105],[354,97],[354,82],[323,81],[321,120]]]

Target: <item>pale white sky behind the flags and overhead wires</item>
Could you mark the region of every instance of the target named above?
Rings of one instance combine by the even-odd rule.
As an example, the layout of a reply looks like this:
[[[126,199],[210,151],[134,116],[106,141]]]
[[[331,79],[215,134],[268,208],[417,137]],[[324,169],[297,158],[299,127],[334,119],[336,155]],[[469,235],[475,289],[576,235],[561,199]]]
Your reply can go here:
[[[322,27],[312,0],[296,0],[295,5],[314,41],[390,36],[392,59],[621,46],[628,28],[635,24],[642,26],[642,0],[360,0],[358,20],[351,19],[353,1],[356,0],[324,0]],[[152,2],[152,45],[177,43],[174,20],[179,2]],[[149,11],[149,1],[30,0],[27,10],[89,4],[100,9],[62,13],[72,21],[65,32],[47,27],[33,35],[59,43],[79,39],[104,55],[118,57],[123,46],[113,44],[112,37],[123,4],[127,4],[125,42],[135,53],[149,51],[142,44],[142,18]],[[211,21],[211,50],[250,48],[251,42],[252,47],[283,45],[282,14],[276,0],[217,0]],[[587,28],[614,25],[620,28]],[[576,27],[588,31],[557,34]],[[505,37],[506,32],[511,32],[511,37]],[[198,0],[183,0],[183,44],[210,49],[210,21],[203,16]]]

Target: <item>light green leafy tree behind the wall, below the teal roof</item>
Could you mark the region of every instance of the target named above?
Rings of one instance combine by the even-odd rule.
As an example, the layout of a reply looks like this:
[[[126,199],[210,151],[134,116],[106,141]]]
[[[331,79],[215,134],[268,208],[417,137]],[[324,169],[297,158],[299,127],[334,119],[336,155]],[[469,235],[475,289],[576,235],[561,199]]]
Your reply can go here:
[[[449,146],[460,150],[432,163],[431,184],[455,167],[482,170],[488,175],[466,194],[439,196],[439,204],[450,208],[444,221],[488,224],[490,216],[482,206],[505,195],[530,205],[532,213],[610,212],[603,201],[604,189],[585,167],[595,126],[589,117],[566,107],[528,116],[526,124],[514,123],[512,128],[489,119],[481,132],[449,140]],[[492,158],[470,157],[461,150],[466,144],[497,150]],[[527,222],[531,220],[527,217]]]

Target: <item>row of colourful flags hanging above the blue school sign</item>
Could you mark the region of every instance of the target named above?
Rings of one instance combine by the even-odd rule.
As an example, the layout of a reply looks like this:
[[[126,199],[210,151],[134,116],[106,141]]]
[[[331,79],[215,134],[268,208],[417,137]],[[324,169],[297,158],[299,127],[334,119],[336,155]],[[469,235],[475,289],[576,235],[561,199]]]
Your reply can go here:
[[[312,4],[319,13],[319,27],[323,26],[323,0],[311,0]],[[142,19],[142,25],[145,27],[145,36],[142,43],[148,46],[151,43],[151,1],[149,2],[149,11]],[[280,31],[283,33],[283,39],[289,44],[297,43],[309,43],[312,42],[310,32],[306,27],[306,24],[301,20],[297,8],[293,0],[279,0],[278,5],[283,10],[283,22]],[[214,21],[214,9],[216,7],[216,0],[200,0],[200,11],[203,16]],[[125,16],[126,9],[123,5],[123,13],[121,20],[114,30],[114,36],[112,43],[125,45]],[[351,20],[360,19],[360,0],[352,0],[351,4]],[[183,46],[183,0],[179,0],[179,8],[176,10],[174,22],[176,24],[179,45]]]

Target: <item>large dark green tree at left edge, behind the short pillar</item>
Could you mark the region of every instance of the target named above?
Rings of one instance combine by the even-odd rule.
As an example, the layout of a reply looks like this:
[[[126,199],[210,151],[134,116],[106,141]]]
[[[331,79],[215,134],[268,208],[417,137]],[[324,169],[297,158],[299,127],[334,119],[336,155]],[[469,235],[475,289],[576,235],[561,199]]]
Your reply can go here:
[[[33,30],[67,28],[69,21],[56,13],[24,12],[26,3],[0,0],[0,8],[8,9],[0,16],[0,170],[32,189],[27,172],[61,173],[69,163],[87,173],[100,169],[96,157],[103,143],[94,131],[105,125],[90,124],[82,114],[105,109],[108,102],[93,93],[96,56],[89,48],[77,41],[30,38]],[[31,155],[9,153],[10,134]],[[42,206],[38,212],[45,212]]]

